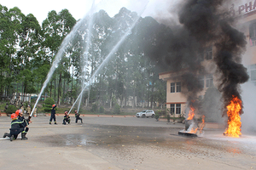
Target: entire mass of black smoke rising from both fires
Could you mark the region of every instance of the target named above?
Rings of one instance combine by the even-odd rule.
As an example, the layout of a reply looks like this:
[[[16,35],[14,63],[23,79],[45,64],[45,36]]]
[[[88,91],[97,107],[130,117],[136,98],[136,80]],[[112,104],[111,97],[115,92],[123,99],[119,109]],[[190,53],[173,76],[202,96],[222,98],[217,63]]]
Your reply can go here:
[[[212,45],[215,49],[213,57],[217,65],[216,73],[220,75],[218,90],[222,93],[226,108],[233,96],[241,99],[240,84],[248,80],[246,68],[241,65],[241,54],[246,50],[246,37],[233,27],[234,18],[230,15],[229,8],[225,8],[231,6],[231,1],[180,2],[178,20],[181,26],[163,23],[172,28],[172,35],[163,38],[160,50],[152,54],[160,56],[163,60],[160,63],[172,65],[172,71],[178,72],[187,68],[188,71],[183,74],[182,79],[183,85],[189,91],[185,91],[189,101],[202,89],[195,75],[199,72],[206,74],[199,66],[201,60],[197,52]]]

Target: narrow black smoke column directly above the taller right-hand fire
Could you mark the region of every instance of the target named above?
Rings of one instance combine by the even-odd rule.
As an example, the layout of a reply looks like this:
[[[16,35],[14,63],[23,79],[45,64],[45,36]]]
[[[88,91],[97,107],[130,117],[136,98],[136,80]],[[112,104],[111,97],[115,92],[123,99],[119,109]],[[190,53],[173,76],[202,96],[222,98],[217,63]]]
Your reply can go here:
[[[218,53],[214,60],[218,65],[218,71],[222,74],[218,89],[223,94],[224,106],[227,106],[233,96],[241,99],[240,84],[247,82],[249,78],[247,69],[241,65],[241,53],[247,42],[243,33],[227,23],[221,22],[220,28],[224,32],[224,39],[216,43]]]

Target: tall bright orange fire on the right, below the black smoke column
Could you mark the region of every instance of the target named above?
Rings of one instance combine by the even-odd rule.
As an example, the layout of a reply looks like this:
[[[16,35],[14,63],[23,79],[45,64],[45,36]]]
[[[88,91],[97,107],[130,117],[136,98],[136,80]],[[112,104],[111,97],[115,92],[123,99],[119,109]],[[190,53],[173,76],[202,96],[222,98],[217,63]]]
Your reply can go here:
[[[241,111],[241,99],[233,96],[233,99],[230,101],[230,105],[227,106],[227,109],[229,127],[226,129],[226,132],[224,132],[224,135],[239,138],[241,135],[241,117],[239,115]]]

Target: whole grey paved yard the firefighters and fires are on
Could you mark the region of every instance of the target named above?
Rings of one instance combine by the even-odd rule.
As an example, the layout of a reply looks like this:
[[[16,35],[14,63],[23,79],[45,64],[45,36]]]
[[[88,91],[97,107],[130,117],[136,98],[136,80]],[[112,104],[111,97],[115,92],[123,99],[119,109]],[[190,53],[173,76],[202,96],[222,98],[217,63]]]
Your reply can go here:
[[[177,135],[184,125],[152,118],[85,116],[84,123],[49,125],[49,116],[32,117],[28,140],[0,138],[0,169],[253,169],[256,133],[224,137],[224,129],[204,135]],[[0,134],[10,119],[0,117]]]

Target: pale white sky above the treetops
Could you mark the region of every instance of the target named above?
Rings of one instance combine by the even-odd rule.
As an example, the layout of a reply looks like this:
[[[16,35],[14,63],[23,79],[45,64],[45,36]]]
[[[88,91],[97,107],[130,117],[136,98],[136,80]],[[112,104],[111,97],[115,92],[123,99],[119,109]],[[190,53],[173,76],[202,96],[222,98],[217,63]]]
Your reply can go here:
[[[92,1],[93,0],[44,0],[38,3],[38,1],[35,0],[0,0],[0,4],[7,8],[18,7],[25,15],[33,14],[41,25],[43,20],[47,18],[49,11],[55,10],[59,13],[64,8],[67,8],[69,13],[72,14],[76,20],[82,19],[84,15],[90,11]],[[139,14],[143,11],[143,7],[148,1],[149,3],[142,14],[143,17],[159,15],[168,17],[170,15],[168,13],[168,8],[171,6],[170,2],[177,2],[177,0],[95,0],[95,3],[97,11],[104,9],[110,17],[113,17],[122,7]]]

